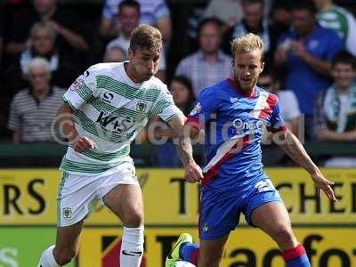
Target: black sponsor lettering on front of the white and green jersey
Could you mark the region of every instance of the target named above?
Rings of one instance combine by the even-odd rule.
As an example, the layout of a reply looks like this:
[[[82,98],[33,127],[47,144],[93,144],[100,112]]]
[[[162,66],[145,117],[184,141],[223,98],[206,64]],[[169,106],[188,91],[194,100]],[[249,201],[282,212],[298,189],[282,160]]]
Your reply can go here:
[[[129,134],[129,131],[132,130],[135,124],[134,119],[131,117],[110,116],[104,111],[101,111],[96,122],[99,123],[103,129],[121,135]]]

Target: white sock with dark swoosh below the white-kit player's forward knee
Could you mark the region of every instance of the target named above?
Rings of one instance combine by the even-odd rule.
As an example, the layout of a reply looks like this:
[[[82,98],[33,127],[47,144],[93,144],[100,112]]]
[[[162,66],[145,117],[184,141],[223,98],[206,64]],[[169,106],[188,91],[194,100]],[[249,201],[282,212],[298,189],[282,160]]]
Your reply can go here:
[[[140,267],[143,255],[143,226],[139,228],[124,227],[121,243],[120,266]]]

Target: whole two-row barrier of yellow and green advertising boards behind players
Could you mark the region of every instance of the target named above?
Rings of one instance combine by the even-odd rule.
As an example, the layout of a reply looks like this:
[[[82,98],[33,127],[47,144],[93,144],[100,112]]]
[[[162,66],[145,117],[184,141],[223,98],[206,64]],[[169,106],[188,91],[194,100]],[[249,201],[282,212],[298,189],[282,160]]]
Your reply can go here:
[[[356,266],[356,170],[323,169],[335,183],[336,203],[317,198],[308,174],[298,168],[269,168],[289,210],[295,233],[312,266]],[[198,185],[185,182],[182,169],[137,170],[145,201],[145,255],[142,267],[164,266],[182,231],[198,240]],[[61,172],[53,169],[0,170],[0,266],[35,266],[54,241],[56,195]],[[283,266],[278,247],[247,226],[233,231],[223,266]],[[117,266],[121,223],[107,208],[93,204],[85,221],[77,263],[68,266]]]

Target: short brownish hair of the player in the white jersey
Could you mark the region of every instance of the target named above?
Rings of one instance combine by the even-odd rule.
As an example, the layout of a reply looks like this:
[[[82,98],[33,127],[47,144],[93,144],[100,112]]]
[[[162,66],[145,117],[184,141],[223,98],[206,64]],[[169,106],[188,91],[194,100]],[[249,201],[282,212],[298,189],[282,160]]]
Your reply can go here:
[[[134,51],[139,47],[147,48],[148,50],[158,49],[158,51],[161,51],[162,35],[158,28],[154,28],[147,24],[142,24],[134,28],[131,33],[130,48]]]

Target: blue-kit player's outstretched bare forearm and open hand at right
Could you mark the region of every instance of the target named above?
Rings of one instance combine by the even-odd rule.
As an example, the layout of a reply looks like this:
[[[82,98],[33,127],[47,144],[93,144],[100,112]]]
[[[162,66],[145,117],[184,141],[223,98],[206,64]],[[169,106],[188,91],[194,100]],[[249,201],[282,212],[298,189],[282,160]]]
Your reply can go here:
[[[299,166],[302,166],[312,176],[312,180],[318,189],[318,195],[320,196],[321,190],[325,192],[328,198],[336,201],[334,190],[331,185],[334,182],[329,182],[320,169],[312,162],[312,158],[304,150],[303,145],[289,130],[282,137],[282,142],[279,143],[279,147],[286,152],[286,154],[292,158]]]

